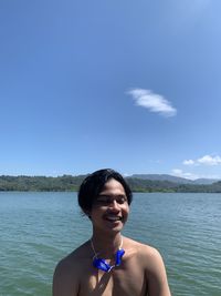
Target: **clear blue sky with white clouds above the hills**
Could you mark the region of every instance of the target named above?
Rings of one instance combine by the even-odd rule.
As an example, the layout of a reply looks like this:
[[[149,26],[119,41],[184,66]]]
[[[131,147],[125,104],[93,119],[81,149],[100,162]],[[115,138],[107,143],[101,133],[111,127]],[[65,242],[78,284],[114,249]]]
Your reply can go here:
[[[221,178],[220,10],[1,0],[0,175]]]

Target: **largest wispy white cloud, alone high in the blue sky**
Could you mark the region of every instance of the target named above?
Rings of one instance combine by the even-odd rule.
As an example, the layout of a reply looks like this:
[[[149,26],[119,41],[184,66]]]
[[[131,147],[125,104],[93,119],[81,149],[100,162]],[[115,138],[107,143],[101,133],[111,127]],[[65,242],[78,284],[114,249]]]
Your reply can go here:
[[[150,90],[133,89],[127,92],[133,96],[137,105],[147,108],[150,112],[160,113],[164,116],[175,116],[177,110],[162,95]]]

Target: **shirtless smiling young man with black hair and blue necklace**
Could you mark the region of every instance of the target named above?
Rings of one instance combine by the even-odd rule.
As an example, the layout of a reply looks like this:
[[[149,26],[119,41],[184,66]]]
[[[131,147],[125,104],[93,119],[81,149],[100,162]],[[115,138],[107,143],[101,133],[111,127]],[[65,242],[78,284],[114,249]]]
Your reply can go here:
[[[170,296],[160,254],[120,234],[131,198],[129,186],[113,170],[85,178],[78,204],[93,235],[57,264],[53,296]]]

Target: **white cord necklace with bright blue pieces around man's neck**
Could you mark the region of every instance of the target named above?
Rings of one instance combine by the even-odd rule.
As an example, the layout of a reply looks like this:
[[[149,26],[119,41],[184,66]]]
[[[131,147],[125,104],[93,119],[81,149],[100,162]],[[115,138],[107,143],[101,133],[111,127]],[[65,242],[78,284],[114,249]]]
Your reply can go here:
[[[106,272],[106,273],[109,273],[113,268],[115,268],[122,264],[122,257],[125,254],[124,248],[122,248],[123,239],[122,239],[122,243],[120,243],[118,251],[115,254],[115,264],[114,265],[109,265],[105,259],[98,258],[92,239],[91,239],[91,245],[92,245],[92,249],[94,252],[93,266],[95,268],[101,269],[101,271]]]

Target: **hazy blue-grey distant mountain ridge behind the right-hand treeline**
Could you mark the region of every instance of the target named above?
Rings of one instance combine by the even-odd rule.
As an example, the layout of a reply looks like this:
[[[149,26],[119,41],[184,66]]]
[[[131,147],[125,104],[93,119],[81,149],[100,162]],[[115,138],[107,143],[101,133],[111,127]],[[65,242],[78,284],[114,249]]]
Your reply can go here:
[[[172,176],[168,174],[134,174],[131,177],[140,178],[140,180],[151,180],[151,181],[169,181],[177,184],[199,184],[199,185],[210,185],[219,180],[215,178],[197,178],[189,180],[179,176]]]

